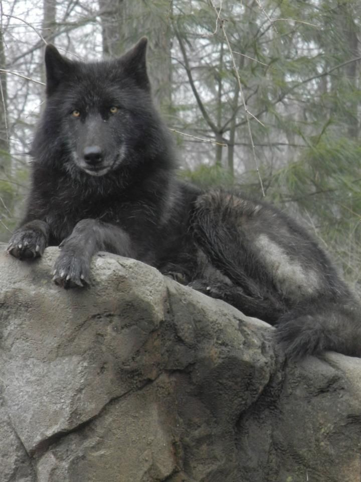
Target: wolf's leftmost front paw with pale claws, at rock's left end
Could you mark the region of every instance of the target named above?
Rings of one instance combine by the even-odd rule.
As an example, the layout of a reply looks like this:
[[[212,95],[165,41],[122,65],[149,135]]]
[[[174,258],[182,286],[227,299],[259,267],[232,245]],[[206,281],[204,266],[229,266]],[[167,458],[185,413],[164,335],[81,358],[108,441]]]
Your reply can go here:
[[[20,260],[38,258],[44,253],[46,244],[47,238],[42,231],[20,228],[11,237],[7,251]]]

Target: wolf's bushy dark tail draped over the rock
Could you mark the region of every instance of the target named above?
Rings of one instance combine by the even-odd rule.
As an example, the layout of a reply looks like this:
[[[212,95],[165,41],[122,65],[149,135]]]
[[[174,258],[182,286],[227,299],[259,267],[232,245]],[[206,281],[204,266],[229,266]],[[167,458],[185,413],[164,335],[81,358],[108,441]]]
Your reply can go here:
[[[360,357],[361,308],[352,297],[305,302],[278,319],[277,339],[288,358],[326,350]]]

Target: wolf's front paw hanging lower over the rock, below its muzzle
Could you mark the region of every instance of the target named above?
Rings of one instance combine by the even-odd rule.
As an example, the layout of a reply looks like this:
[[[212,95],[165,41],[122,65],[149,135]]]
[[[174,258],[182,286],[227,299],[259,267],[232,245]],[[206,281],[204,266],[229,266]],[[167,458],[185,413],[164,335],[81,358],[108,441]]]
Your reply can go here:
[[[81,256],[62,252],[55,262],[53,281],[65,289],[87,286],[90,284],[90,267]]]

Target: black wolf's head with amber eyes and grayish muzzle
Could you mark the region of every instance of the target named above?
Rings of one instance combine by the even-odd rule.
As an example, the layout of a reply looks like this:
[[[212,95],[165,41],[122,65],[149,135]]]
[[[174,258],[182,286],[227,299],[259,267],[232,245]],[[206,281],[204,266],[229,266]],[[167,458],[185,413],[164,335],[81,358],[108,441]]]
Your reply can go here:
[[[47,104],[33,153],[75,175],[139,168],[164,149],[142,38],[122,57],[76,62],[52,45],[45,53]]]

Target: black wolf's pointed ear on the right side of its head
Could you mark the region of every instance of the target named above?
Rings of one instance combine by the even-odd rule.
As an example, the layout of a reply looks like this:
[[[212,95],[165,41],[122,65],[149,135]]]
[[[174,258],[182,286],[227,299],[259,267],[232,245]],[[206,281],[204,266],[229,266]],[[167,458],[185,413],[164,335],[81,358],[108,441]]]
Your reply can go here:
[[[143,88],[144,90],[150,89],[150,82],[145,60],[147,42],[147,38],[142,37],[138,43],[134,45],[134,47],[128,50],[119,59],[124,72],[129,77],[135,79],[139,87]]]

